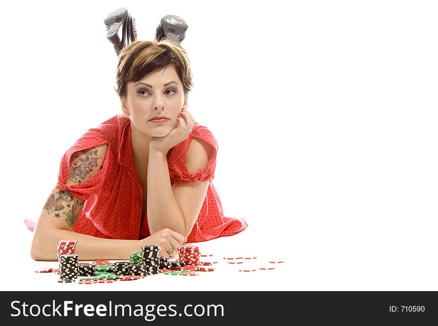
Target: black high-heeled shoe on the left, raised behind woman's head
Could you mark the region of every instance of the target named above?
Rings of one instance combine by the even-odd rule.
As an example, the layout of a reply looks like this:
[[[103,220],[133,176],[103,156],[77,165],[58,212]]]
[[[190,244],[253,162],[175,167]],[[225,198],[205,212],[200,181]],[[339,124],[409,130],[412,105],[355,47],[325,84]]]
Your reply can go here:
[[[108,30],[107,39],[114,45],[117,55],[125,45],[137,40],[135,19],[126,8],[120,7],[111,12],[104,23]]]

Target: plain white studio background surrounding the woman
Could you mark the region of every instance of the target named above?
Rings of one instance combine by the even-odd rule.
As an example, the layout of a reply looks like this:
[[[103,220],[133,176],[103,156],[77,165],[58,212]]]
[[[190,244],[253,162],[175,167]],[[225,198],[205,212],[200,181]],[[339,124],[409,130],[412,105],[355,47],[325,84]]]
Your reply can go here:
[[[2,267],[30,261],[23,219],[64,152],[120,113],[103,23],[120,6],[140,39],[188,22],[188,109],[219,141],[225,214],[300,274],[274,284],[438,290],[435,1],[5,2]]]

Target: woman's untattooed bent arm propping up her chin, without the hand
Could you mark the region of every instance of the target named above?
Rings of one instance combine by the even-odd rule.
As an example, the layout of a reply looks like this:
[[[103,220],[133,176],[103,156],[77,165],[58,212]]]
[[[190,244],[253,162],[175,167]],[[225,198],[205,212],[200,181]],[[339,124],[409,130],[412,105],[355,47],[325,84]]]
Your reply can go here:
[[[193,138],[186,155],[191,173],[205,170],[213,147]],[[167,152],[166,152],[167,153]],[[169,228],[187,237],[199,216],[209,181],[175,183],[171,186],[166,153],[149,149],[147,171],[147,218],[151,233]]]

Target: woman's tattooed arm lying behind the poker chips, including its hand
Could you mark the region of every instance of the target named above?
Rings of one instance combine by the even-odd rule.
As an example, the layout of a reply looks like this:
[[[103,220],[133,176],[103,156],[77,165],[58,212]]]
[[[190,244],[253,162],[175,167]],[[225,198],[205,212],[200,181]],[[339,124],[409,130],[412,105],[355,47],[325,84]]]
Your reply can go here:
[[[107,145],[97,146],[93,150],[98,151],[97,168],[86,174],[75,173],[74,167],[78,162],[87,157],[88,150],[77,152],[72,156],[71,176],[67,180],[68,185],[90,181],[99,172],[103,165]],[[83,170],[84,171],[84,170]],[[169,229],[161,230],[143,240],[114,240],[101,239],[89,235],[72,232],[78,216],[81,213],[84,201],[73,196],[69,190],[59,190],[54,187],[47,199],[46,205],[40,214],[35,226],[30,255],[35,260],[57,260],[57,247],[60,240],[78,240],[76,254],[80,260],[95,259],[129,259],[129,254],[141,251],[143,245],[159,245],[160,255],[168,256],[165,250],[176,248],[184,242],[184,237]]]

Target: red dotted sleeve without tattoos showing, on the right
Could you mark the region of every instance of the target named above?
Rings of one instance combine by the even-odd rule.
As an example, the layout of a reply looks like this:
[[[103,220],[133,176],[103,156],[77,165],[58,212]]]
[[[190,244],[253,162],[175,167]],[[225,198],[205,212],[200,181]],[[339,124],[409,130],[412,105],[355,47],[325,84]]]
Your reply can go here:
[[[198,169],[195,173],[189,172],[185,164],[187,150],[193,138],[201,139],[213,147],[212,155],[205,170]],[[218,142],[212,132],[198,123],[192,128],[192,132],[185,141],[175,146],[168,159],[169,174],[173,182],[189,183],[197,181],[212,181],[215,177],[216,156],[218,153]]]

